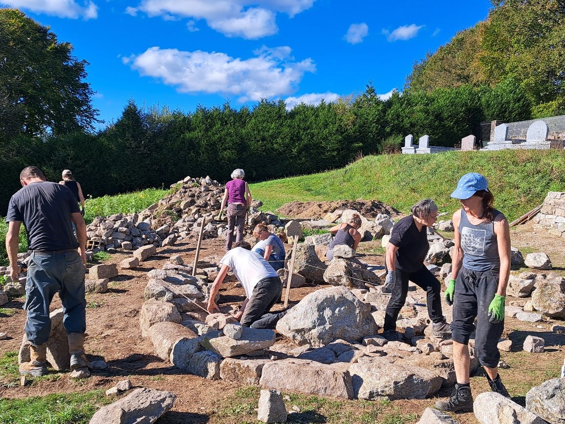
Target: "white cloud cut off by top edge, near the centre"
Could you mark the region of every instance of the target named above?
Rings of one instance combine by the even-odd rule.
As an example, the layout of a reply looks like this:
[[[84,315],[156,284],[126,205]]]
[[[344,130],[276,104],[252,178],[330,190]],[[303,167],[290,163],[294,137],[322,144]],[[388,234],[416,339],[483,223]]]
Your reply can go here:
[[[141,0],[126,12],[149,16],[204,19],[208,26],[228,37],[256,38],[276,34],[276,12],[290,16],[312,7],[315,0]]]

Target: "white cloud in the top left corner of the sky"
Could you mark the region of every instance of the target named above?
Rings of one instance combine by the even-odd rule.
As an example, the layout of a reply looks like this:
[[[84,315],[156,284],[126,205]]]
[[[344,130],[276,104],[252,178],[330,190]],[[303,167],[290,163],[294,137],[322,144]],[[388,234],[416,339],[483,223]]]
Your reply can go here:
[[[92,1],[82,2],[82,6],[75,0],[0,0],[0,5],[21,8],[34,13],[59,16],[59,18],[84,18],[96,19],[98,6]]]

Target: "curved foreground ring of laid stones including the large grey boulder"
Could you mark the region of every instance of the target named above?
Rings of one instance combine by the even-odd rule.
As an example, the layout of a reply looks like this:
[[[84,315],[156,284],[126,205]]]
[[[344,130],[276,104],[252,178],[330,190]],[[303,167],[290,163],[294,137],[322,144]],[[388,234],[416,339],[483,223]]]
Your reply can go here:
[[[377,335],[384,315],[376,312],[384,312],[386,296],[341,286],[319,289],[277,323],[288,341],[275,344],[271,330],[241,327],[229,316],[206,315],[197,307],[181,311],[166,294],[162,290],[160,300],[144,302],[142,335],[157,356],[190,374],[367,400],[424,399],[455,382],[451,345],[429,334],[421,306],[404,308],[399,317],[411,343],[389,342]],[[473,357],[472,372],[477,366]]]

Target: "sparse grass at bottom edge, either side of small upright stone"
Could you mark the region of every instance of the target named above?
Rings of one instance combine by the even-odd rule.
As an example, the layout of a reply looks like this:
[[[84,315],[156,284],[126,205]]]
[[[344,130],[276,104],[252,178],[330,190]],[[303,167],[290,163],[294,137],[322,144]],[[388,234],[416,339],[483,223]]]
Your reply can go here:
[[[222,423],[256,424],[258,387],[245,387],[235,395],[219,401],[215,418]],[[325,397],[285,395],[286,410],[297,413],[289,414],[288,423],[330,423],[330,424],[403,424],[414,422],[416,416],[399,411],[389,401],[346,401]]]

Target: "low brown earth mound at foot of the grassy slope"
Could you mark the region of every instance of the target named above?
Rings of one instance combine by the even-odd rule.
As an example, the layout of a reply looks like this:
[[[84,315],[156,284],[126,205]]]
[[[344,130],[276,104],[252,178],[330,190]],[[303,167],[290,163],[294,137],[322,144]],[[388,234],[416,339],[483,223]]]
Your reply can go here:
[[[292,202],[277,209],[285,217],[321,219],[325,214],[337,209],[354,209],[366,218],[375,218],[377,214],[396,216],[399,211],[378,200],[336,200],[333,202]]]

